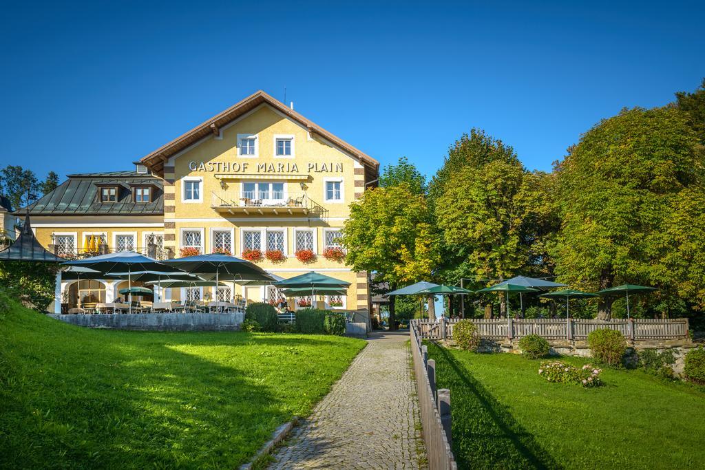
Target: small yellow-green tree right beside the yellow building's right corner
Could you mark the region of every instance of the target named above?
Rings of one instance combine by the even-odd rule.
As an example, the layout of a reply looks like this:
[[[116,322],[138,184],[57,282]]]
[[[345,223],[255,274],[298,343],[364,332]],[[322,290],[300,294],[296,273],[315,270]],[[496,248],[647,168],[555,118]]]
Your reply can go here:
[[[407,184],[367,190],[350,205],[341,242],[355,271],[376,271],[376,283],[391,290],[428,275],[436,264],[431,245],[431,214],[423,194]],[[389,308],[395,328],[395,302]]]

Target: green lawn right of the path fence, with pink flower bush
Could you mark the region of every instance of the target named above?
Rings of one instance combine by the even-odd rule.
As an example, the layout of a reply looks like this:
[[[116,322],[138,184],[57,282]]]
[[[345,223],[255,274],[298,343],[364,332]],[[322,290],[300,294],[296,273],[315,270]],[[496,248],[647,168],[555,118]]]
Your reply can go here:
[[[686,469],[705,465],[705,391],[604,369],[605,386],[548,383],[540,360],[429,345],[450,388],[458,467]],[[585,364],[578,358],[563,358]]]

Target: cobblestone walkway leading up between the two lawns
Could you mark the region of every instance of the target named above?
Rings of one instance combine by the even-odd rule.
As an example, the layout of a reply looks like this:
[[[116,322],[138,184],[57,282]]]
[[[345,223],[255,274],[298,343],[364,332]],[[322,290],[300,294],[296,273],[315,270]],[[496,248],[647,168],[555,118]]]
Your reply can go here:
[[[376,334],[271,469],[418,469],[424,457],[404,333]],[[420,452],[420,454],[419,454]]]

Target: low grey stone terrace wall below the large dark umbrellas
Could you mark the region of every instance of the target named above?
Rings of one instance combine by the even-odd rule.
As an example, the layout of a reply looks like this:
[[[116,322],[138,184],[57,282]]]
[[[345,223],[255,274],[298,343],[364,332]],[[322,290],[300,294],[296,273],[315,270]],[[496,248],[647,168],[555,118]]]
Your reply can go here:
[[[49,314],[51,318],[88,328],[143,331],[233,331],[243,323],[233,314]]]

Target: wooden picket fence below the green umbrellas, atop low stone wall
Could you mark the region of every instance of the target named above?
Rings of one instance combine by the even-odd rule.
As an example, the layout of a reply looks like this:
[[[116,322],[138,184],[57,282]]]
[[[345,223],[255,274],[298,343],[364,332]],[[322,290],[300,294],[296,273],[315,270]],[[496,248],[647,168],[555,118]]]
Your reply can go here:
[[[422,339],[446,340],[453,338],[453,326],[458,319],[415,320]],[[593,330],[618,330],[632,341],[682,340],[688,338],[688,319],[471,319],[482,338],[494,340],[522,338],[535,334],[547,340],[585,340]]]

